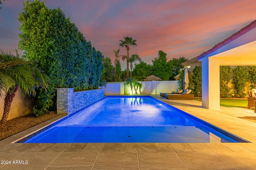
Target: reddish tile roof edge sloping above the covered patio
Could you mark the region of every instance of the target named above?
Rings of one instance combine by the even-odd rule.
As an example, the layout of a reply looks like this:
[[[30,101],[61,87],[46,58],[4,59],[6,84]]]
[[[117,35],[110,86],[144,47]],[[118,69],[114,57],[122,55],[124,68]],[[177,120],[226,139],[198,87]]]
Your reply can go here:
[[[198,57],[195,57],[195,58],[197,58],[197,60],[202,59],[204,56],[209,55],[210,53],[212,53],[212,52],[216,51],[217,49],[219,49],[220,47],[223,47],[224,45],[230,43],[234,39],[237,39],[238,37],[247,33],[251,29],[254,29],[255,27],[256,27],[256,20],[252,21],[249,25],[247,25],[246,27],[243,27],[240,31],[234,33],[233,35],[231,35],[230,37],[228,37],[224,41],[218,43],[217,45],[215,45],[214,47],[212,47],[208,51],[202,53],[201,55],[199,55]]]

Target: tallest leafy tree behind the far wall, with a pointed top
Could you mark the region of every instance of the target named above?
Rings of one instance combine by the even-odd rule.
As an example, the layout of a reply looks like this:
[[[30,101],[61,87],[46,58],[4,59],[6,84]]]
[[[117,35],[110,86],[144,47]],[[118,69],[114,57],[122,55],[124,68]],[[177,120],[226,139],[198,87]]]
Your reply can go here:
[[[172,63],[167,63],[166,53],[160,50],[158,51],[158,57],[154,58],[153,63],[153,74],[162,78],[162,80],[170,80],[172,76]]]

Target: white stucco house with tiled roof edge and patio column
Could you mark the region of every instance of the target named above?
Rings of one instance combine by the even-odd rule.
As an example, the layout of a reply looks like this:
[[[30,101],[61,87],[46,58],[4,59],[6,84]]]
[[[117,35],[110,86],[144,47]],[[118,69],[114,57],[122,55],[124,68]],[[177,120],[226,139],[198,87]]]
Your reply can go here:
[[[202,65],[202,107],[220,109],[220,66],[256,65],[255,27],[256,20],[196,58]]]

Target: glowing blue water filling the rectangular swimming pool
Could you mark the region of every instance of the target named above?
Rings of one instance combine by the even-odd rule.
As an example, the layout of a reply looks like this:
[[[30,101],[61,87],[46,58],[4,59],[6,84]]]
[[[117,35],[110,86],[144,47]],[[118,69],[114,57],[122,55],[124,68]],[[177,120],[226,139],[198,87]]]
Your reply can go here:
[[[237,142],[217,130],[150,96],[107,96],[24,143]]]

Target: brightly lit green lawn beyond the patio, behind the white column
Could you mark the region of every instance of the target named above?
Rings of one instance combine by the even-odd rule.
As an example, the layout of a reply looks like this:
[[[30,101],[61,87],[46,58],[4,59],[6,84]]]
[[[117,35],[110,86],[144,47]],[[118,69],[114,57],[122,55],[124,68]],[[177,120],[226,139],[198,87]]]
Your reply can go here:
[[[194,100],[198,100],[202,102],[202,99],[197,99],[195,98]],[[220,99],[220,106],[225,106],[225,107],[247,107],[247,100],[240,100],[240,99],[235,99],[235,104],[234,104],[234,99]]]

